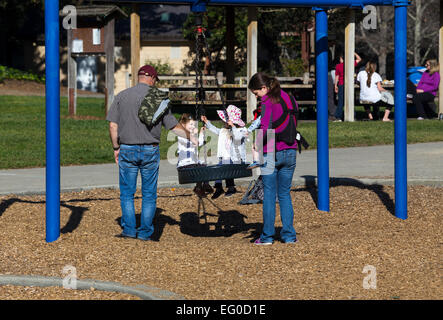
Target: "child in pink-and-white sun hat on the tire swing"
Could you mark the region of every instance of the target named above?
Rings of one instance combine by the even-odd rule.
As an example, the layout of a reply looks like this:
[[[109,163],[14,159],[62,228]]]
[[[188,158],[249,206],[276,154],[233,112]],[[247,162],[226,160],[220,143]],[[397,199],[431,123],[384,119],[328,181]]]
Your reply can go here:
[[[217,157],[219,164],[244,163],[246,161],[246,136],[247,129],[245,123],[241,119],[240,108],[229,105],[224,110],[217,110],[218,116],[224,121],[223,128],[215,127],[205,116],[201,119],[205,123],[206,128],[212,133],[218,135]],[[227,119],[226,116],[227,115]],[[217,199],[224,193],[221,180],[215,181],[215,192],[212,199]],[[226,187],[228,188],[225,196],[230,197],[237,192],[234,179],[226,179]]]

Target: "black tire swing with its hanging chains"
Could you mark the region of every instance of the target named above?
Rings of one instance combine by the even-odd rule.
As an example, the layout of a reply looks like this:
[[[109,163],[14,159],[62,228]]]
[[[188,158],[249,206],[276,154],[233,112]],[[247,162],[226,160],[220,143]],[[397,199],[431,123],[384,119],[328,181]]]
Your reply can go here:
[[[200,68],[201,53],[206,49],[206,56],[209,60],[209,68],[211,67],[211,53],[209,51],[208,42],[204,34],[204,28],[202,27],[202,16],[196,16],[196,59],[194,60],[195,78],[196,78],[196,95],[195,95],[195,113],[198,124],[200,123],[199,115],[205,115],[204,109],[204,97],[205,92],[203,90],[203,74]],[[221,92],[220,84],[217,77],[215,77],[218,92],[221,97],[223,111],[226,119],[228,119],[226,112],[226,103]],[[206,154],[206,134],[203,136],[203,148],[204,148],[204,164],[194,168],[178,168],[178,182],[179,184],[189,184],[196,182],[208,182],[216,180],[237,179],[252,176],[252,170],[247,169],[248,163],[243,164],[216,164],[207,166],[207,154]],[[198,148],[197,148],[197,158]]]

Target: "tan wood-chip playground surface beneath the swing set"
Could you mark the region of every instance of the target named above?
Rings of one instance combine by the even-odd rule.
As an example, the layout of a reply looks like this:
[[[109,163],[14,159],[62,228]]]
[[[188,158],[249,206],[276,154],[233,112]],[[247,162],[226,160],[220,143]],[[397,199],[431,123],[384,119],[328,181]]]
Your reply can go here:
[[[261,205],[237,205],[242,194],[215,200],[224,212],[206,202],[207,224],[196,216],[191,189],[158,194],[158,242],[114,237],[121,231],[117,190],[62,194],[62,234],[53,243],[45,242],[44,196],[0,197],[0,274],[62,277],[72,265],[79,279],[153,286],[186,299],[442,297],[443,188],[410,186],[409,217],[400,220],[391,186],[332,186],[330,213],[316,209],[314,189],[298,187],[291,194],[299,242],[265,247],[251,243],[261,231]],[[363,288],[366,265],[376,268],[376,289]],[[8,292],[0,287],[0,299],[23,297],[21,289]]]

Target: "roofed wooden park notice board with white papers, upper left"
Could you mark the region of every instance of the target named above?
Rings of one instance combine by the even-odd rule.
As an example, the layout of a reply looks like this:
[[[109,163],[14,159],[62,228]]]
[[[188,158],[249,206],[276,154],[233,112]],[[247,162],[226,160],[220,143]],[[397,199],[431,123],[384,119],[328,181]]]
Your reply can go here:
[[[105,106],[114,99],[115,19],[127,18],[115,5],[65,6],[59,11],[68,39],[68,111],[77,110],[77,89],[97,92],[97,56],[106,57]]]

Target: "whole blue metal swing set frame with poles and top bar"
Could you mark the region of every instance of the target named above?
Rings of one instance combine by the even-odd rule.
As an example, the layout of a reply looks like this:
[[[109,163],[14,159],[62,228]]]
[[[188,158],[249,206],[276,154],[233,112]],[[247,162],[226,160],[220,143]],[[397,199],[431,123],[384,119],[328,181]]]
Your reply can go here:
[[[110,1],[107,1],[110,2]],[[318,209],[329,212],[328,16],[336,7],[367,5],[395,8],[395,215],[407,219],[406,30],[408,0],[114,0],[114,3],[190,5],[204,12],[208,5],[312,7],[315,11],[317,93]],[[59,1],[45,1],[46,60],[46,241],[60,236],[60,20]]]

